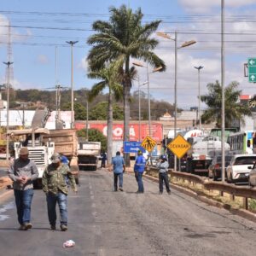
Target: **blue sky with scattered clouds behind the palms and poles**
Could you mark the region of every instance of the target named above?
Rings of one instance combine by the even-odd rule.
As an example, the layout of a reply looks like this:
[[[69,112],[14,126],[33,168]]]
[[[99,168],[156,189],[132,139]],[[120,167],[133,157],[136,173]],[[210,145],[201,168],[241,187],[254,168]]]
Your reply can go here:
[[[196,44],[177,49],[177,107],[198,106],[198,71],[202,66],[201,95],[207,94],[207,84],[221,81],[221,0],[10,0],[0,7],[0,84],[6,82],[8,52],[14,61],[15,89],[55,88],[55,84],[70,88],[71,48],[66,41],[79,41],[73,46],[73,87],[90,89],[95,80],[87,78],[86,56],[90,46],[88,37],[94,32],[92,23],[108,20],[110,6],[126,4],[131,9],[141,8],[143,23],[162,20],[158,32],[166,32],[177,46],[185,41]],[[224,80],[225,85],[239,82],[242,94],[253,95],[255,84],[244,77],[244,63],[256,57],[256,1],[224,1]],[[11,48],[8,48],[11,25]],[[150,73],[150,96],[156,100],[174,102],[174,42],[160,38],[154,52],[166,62],[165,73]],[[145,63],[143,65],[146,66]],[[147,80],[147,69],[138,67],[141,84]],[[138,84],[133,84],[137,90]],[[141,86],[147,93],[147,85]],[[201,108],[204,108],[202,105]]]

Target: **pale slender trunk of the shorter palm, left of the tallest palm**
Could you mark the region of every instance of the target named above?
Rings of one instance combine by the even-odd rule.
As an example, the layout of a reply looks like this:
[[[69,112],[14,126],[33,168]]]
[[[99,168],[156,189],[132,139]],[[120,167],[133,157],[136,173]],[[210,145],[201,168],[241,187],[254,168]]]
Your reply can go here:
[[[111,165],[112,160],[112,148],[113,145],[113,102],[112,102],[112,92],[109,89],[108,94],[108,131],[107,131],[107,160],[108,166]]]

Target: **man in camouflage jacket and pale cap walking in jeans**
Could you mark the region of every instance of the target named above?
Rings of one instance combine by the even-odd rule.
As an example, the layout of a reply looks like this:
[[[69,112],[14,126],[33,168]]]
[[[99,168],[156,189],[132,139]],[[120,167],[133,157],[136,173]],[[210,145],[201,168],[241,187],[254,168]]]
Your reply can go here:
[[[77,193],[72,172],[66,164],[61,163],[61,155],[55,153],[51,156],[51,164],[45,168],[42,178],[50,230],[56,229],[56,203],[60,208],[61,230],[67,230],[67,183],[65,177],[69,178],[71,188]]]

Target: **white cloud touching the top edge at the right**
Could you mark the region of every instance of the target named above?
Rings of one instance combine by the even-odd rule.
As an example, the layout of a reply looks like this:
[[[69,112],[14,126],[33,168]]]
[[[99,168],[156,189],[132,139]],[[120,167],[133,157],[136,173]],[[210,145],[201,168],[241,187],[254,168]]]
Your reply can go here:
[[[221,1],[206,1],[206,0],[179,0],[183,8],[189,13],[205,14],[212,9],[220,9]],[[226,0],[225,7],[239,8],[255,3],[255,0]]]

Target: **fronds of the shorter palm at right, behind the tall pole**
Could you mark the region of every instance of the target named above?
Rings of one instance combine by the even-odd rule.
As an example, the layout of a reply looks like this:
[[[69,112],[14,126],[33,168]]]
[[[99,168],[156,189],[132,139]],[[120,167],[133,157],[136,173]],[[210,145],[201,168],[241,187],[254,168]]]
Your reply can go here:
[[[230,127],[232,120],[239,119],[244,123],[244,116],[251,115],[251,110],[247,105],[243,105],[239,100],[241,90],[238,88],[237,82],[232,82],[225,87],[225,127]],[[218,128],[221,127],[221,96],[222,89],[218,81],[215,84],[207,84],[209,90],[207,95],[201,96],[201,102],[205,102],[208,106],[207,110],[201,116],[202,122],[216,122]]]

